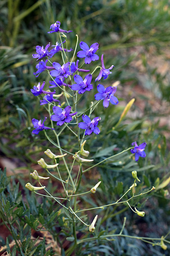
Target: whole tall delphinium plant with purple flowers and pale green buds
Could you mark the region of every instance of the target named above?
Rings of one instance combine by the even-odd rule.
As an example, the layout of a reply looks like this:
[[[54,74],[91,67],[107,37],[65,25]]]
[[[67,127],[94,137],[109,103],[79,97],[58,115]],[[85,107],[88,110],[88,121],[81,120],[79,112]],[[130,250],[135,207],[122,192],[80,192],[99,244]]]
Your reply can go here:
[[[77,35],[75,49],[68,49],[66,35],[67,33],[70,33],[72,31],[61,29],[59,21],[56,21],[54,24],[52,24],[50,26],[50,29],[51,31],[49,31],[48,33],[56,33],[56,35],[59,36],[60,43],[57,42],[55,45],[52,45],[52,48],[50,47],[50,43],[47,44],[45,48],[43,46],[37,46],[37,53],[33,54],[33,58],[36,58],[37,61],[39,61],[39,63],[36,65],[37,71],[34,73],[34,75],[36,75],[36,77],[39,77],[42,72],[46,72],[50,77],[50,86],[49,88],[46,88],[46,90],[44,90],[45,82],[39,82],[37,86],[34,86],[33,89],[31,89],[31,92],[34,96],[42,97],[40,100],[40,105],[43,105],[47,111],[47,115],[44,116],[43,121],[35,118],[32,119],[34,127],[32,134],[38,135],[39,133],[44,132],[44,136],[46,137],[46,139],[48,139],[53,144],[53,146],[56,147],[55,152],[52,152],[50,149],[47,149],[44,152],[48,158],[54,161],[53,164],[47,164],[43,158],[38,161],[38,164],[42,168],[46,169],[48,174],[55,178],[57,182],[61,183],[61,186],[63,188],[63,197],[53,196],[46,189],[46,187],[42,185],[43,183],[41,182],[41,179],[49,179],[49,177],[39,176],[36,170],[31,173],[31,176],[33,177],[33,179],[37,180],[39,186],[33,186],[31,185],[31,183],[27,183],[25,187],[38,195],[41,194],[37,191],[44,189],[45,193],[42,196],[55,200],[61,206],[61,211],[63,210],[63,212],[66,214],[68,221],[72,223],[73,227],[71,230],[72,235],[68,238],[68,240],[74,243],[67,250],[67,255],[71,255],[71,253],[80,243],[85,243],[96,239],[112,240],[116,236],[126,237],[126,235],[122,234],[126,224],[126,218],[124,218],[122,229],[118,234],[109,233],[104,235],[97,235],[95,233],[95,223],[98,216],[97,214],[95,214],[95,210],[102,210],[113,205],[126,204],[134,212],[134,214],[137,214],[140,217],[144,217],[145,212],[131,206],[131,200],[137,197],[139,197],[140,199],[140,196],[151,192],[155,189],[155,187],[153,186],[147,191],[141,191],[139,194],[136,195],[135,187],[137,186],[137,182],[140,182],[140,180],[137,177],[137,171],[133,171],[133,182],[129,178],[128,190],[124,191],[123,195],[117,201],[111,204],[100,205],[99,207],[90,207],[83,209],[80,208],[80,198],[82,198],[83,196],[87,197],[90,193],[95,193],[97,188],[100,187],[101,184],[101,181],[96,182],[96,185],[93,184],[90,190],[87,191],[85,187],[84,192],[82,192],[81,189],[80,193],[79,191],[80,187],[82,186],[82,177],[83,175],[85,175],[86,172],[91,169],[93,170],[94,167],[99,166],[103,162],[115,158],[120,154],[128,151],[131,151],[132,154],[135,154],[134,161],[138,161],[139,157],[145,158],[146,143],[143,142],[138,146],[136,141],[132,142],[131,145],[129,145],[129,148],[124,149],[121,152],[118,152],[117,154],[114,154],[112,156],[109,156],[108,158],[104,158],[102,161],[92,165],[92,162],[94,160],[88,158],[90,153],[88,150],[86,150],[86,141],[91,140],[92,133],[94,133],[96,136],[99,135],[99,133],[102,133],[102,118],[100,116],[96,117],[94,115],[94,110],[99,104],[103,104],[103,108],[111,108],[113,105],[118,104],[118,99],[115,96],[117,89],[116,86],[105,87],[103,84],[98,83],[98,92],[94,94],[93,91],[95,85],[92,82],[94,80],[93,76],[94,73],[96,73],[96,70],[99,70],[98,76],[95,77],[95,82],[99,82],[102,79],[103,83],[103,79],[107,79],[109,74],[111,74],[111,70],[114,66],[112,65],[109,68],[105,68],[102,54],[101,66],[97,66],[93,71],[90,71],[89,64],[92,61],[99,60],[99,56],[97,55],[99,44],[96,42],[89,47],[86,42],[80,42],[81,50],[77,52]],[[62,37],[64,38],[64,40],[62,40]],[[52,57],[55,54],[59,53],[61,54],[63,60],[62,64],[52,61]],[[73,53],[72,57],[69,57],[71,53]],[[79,58],[78,60],[75,59],[76,55]],[[83,62],[81,65],[79,65],[79,61],[82,59]],[[84,64],[88,66],[88,69],[84,69]],[[87,74],[85,77],[82,75],[84,78],[82,78],[82,76],[80,75],[83,73]],[[90,107],[84,110],[82,102],[84,97],[88,98],[88,95],[93,95],[94,100],[90,102]],[[117,125],[126,115],[133,102],[134,99],[132,99],[128,103]],[[50,120],[51,127],[45,126],[45,122],[47,119]],[[116,128],[117,125],[115,125],[114,128]],[[74,140],[72,141],[72,144],[74,144],[74,146],[72,150],[67,150],[67,148],[65,148],[61,144],[60,137],[62,136],[62,133],[65,129],[67,129],[67,133],[71,133],[74,136]],[[50,138],[50,133],[48,130],[52,130],[55,135],[55,140]],[[73,151],[74,148],[76,148],[75,152]],[[56,154],[56,152],[59,152],[59,154]],[[67,171],[66,176],[63,176],[63,171],[62,169],[60,170],[59,159],[60,162],[62,161],[65,166],[65,170]],[[77,165],[78,169],[75,169],[75,166]],[[53,172],[50,172],[50,168],[56,168],[55,175]],[[77,170],[76,176],[75,170]],[[88,217],[89,212],[90,215]],[[86,213],[87,215],[84,215]],[[89,219],[92,215],[93,221],[90,221]],[[89,234],[90,232],[92,232],[93,235],[84,235],[81,238],[77,238],[77,230],[83,230],[83,232],[89,232]],[[128,237],[133,238],[133,236]],[[167,240],[165,240],[165,237],[157,239],[140,237],[135,238],[151,243],[152,245],[159,245],[163,249],[166,249],[164,241],[167,242]]]

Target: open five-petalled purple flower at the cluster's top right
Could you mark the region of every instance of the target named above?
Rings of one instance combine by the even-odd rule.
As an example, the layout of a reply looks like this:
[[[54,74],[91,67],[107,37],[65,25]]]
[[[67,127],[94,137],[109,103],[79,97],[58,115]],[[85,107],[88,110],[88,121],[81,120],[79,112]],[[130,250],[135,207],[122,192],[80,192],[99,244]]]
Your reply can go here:
[[[82,51],[78,51],[77,57],[84,58],[85,57],[85,63],[89,64],[91,61],[96,61],[99,59],[99,56],[95,54],[95,52],[99,48],[98,43],[94,43],[90,46],[90,49],[88,45],[85,42],[80,42],[80,48]]]

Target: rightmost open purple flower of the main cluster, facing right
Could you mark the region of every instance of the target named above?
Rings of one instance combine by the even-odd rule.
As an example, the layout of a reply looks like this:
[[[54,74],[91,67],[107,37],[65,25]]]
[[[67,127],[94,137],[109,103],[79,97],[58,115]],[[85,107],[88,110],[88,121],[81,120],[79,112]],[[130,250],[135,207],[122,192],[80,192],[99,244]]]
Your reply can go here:
[[[113,105],[117,105],[118,99],[113,96],[116,92],[117,87],[109,86],[105,89],[102,84],[97,85],[97,90],[99,93],[94,95],[95,100],[103,100],[103,107],[107,108],[109,106],[109,102]]]

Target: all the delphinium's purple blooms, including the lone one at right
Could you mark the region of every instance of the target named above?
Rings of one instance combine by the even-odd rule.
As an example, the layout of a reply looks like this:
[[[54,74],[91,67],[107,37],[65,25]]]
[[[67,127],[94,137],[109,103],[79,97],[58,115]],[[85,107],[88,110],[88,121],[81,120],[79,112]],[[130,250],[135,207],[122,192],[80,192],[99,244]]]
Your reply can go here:
[[[72,32],[72,30],[63,30],[60,28],[60,22],[56,21],[54,24],[51,24],[50,26],[51,31],[48,33],[61,33],[63,37],[65,37],[65,40],[60,43],[56,42],[55,45],[52,45],[50,48],[50,43],[46,45],[44,48],[43,46],[36,46],[36,52],[37,54],[33,54],[33,58],[37,58],[37,60],[46,57],[47,59],[45,61],[41,60],[37,65],[37,71],[34,73],[36,77],[38,77],[42,72],[48,72],[51,80],[49,81],[50,85],[49,88],[56,88],[58,87],[59,90],[63,90],[59,92],[60,94],[56,95],[56,91],[51,92],[50,90],[44,90],[45,82],[40,84],[38,83],[37,86],[33,86],[33,89],[31,89],[31,92],[33,93],[34,96],[39,96],[41,94],[46,94],[45,96],[43,95],[43,98],[40,100],[40,105],[44,104],[52,104],[53,105],[53,113],[51,114],[50,112],[50,119],[51,121],[56,122],[57,126],[61,125],[66,125],[70,123],[73,119],[72,117],[74,116],[75,119],[75,124],[77,125],[78,129],[84,129],[84,135],[90,135],[92,133],[99,134],[100,130],[97,127],[99,121],[101,120],[101,117],[94,117],[92,120],[90,119],[90,115],[92,114],[93,110],[91,109],[94,105],[92,104],[92,107],[90,108],[90,115],[84,114],[86,111],[84,111],[82,114],[77,115],[77,102],[81,99],[81,97],[84,94],[88,94],[89,91],[93,90],[95,87],[92,84],[92,75],[95,72],[97,68],[100,68],[98,76],[95,78],[96,81],[100,81],[101,78],[107,79],[108,76],[112,73],[111,69],[114,67],[114,65],[111,65],[108,69],[105,68],[104,65],[104,60],[103,60],[103,54],[101,55],[101,67],[97,66],[96,69],[90,74],[88,73],[84,78],[79,75],[78,72],[90,72],[90,69],[82,69],[82,66],[84,64],[90,64],[92,61],[97,61],[99,60],[99,56],[96,54],[99,44],[93,43],[90,47],[86,42],[80,42],[80,51],[77,52],[77,57],[78,58],[83,58],[84,63],[78,67],[79,65],[79,59],[75,62],[73,61],[75,53],[73,55],[73,58],[71,61],[69,61],[68,58],[68,53],[71,52],[73,49],[67,49],[64,48],[63,44],[66,43],[67,46],[67,36],[64,35],[63,33],[69,33]],[[61,40],[61,36],[60,36]],[[76,49],[75,49],[76,51]],[[49,61],[49,58],[54,56],[56,53],[61,53],[62,54],[62,59],[63,59],[63,65],[61,65],[58,62],[51,62]],[[65,53],[66,52],[66,53]],[[65,60],[64,60],[65,58]],[[51,65],[47,65],[47,63],[51,63]],[[71,77],[73,76],[73,77]],[[54,78],[53,78],[54,77]],[[68,81],[67,81],[68,79]],[[73,82],[74,79],[74,82]],[[65,87],[63,87],[65,86]],[[102,84],[97,85],[97,91],[98,93],[94,94],[94,99],[96,100],[95,104],[97,105],[101,100],[103,101],[103,107],[108,108],[109,103],[112,105],[117,105],[118,104],[118,98],[114,96],[116,93],[117,87],[116,86],[107,86],[104,87]],[[76,92],[75,92],[76,91]],[[78,94],[82,94],[81,96],[78,96]],[[64,106],[65,102],[61,103],[61,99],[58,99],[58,97],[62,97],[62,95],[65,96],[65,100],[67,101],[67,106]],[[69,104],[69,98],[72,98],[73,102],[73,107],[71,107]],[[58,103],[59,106],[55,106],[55,104]],[[62,108],[61,106],[64,106],[65,108]],[[72,108],[74,111],[72,111]],[[95,108],[95,107],[94,107]],[[80,110],[78,110],[80,111]],[[81,112],[80,112],[81,113]],[[82,116],[83,122],[80,122],[78,118]],[[44,121],[46,118],[44,119]],[[52,129],[54,128],[49,128],[44,126],[44,121],[41,124],[41,120],[37,119],[32,119],[33,125],[34,125],[34,130],[33,134],[38,134],[39,131],[41,130],[47,130],[47,129]],[[71,124],[74,124],[71,122]],[[74,128],[74,126],[72,126]],[[69,128],[71,131],[72,129]],[[74,133],[74,132],[73,132]],[[80,133],[80,131],[78,132]],[[74,133],[75,134],[75,133]],[[131,149],[131,153],[135,153],[135,161],[138,161],[139,156],[145,157],[145,146],[146,143],[142,143],[141,145],[137,145],[136,142],[133,142],[132,145],[134,148]],[[78,157],[78,156],[77,156]]]

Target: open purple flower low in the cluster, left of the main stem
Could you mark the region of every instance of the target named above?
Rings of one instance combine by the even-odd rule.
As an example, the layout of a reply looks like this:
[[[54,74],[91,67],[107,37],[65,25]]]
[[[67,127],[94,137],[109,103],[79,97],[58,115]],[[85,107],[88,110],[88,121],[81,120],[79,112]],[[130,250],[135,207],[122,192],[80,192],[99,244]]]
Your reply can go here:
[[[63,125],[63,123],[69,123],[72,120],[73,115],[75,115],[77,112],[70,114],[71,107],[67,106],[65,109],[61,109],[57,106],[54,106],[53,108],[54,115],[52,115],[50,118],[52,121],[57,122],[57,125]]]

